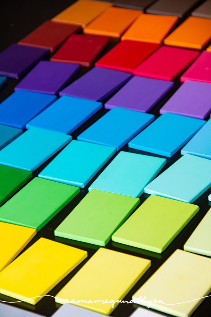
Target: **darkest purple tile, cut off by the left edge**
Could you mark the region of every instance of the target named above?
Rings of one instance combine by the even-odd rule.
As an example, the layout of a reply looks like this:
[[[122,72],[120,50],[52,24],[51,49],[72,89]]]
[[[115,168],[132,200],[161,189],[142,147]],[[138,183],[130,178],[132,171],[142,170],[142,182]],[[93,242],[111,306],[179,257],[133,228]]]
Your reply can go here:
[[[48,49],[12,44],[0,53],[0,75],[18,78],[48,53]]]

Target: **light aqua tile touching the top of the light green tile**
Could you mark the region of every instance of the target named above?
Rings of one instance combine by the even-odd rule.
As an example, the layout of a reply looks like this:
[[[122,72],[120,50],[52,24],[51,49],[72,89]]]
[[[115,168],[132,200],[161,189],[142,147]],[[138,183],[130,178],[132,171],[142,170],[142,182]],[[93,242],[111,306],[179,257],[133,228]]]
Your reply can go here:
[[[140,197],[144,187],[166,164],[166,159],[121,151],[89,187]],[[125,168],[127,166],[127,169]]]

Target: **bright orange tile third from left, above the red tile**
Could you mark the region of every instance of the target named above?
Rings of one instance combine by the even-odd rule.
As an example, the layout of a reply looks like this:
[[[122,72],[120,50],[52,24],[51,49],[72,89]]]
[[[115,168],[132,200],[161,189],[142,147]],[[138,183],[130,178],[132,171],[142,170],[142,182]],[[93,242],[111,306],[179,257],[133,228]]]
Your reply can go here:
[[[160,44],[177,23],[177,20],[177,16],[142,14],[121,39]]]

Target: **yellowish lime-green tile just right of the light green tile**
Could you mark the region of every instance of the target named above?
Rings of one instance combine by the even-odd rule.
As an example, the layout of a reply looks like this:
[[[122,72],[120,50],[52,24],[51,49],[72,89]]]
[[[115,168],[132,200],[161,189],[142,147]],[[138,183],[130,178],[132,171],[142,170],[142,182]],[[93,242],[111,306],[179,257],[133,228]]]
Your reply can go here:
[[[198,211],[196,205],[151,195],[113,234],[112,240],[162,253]]]

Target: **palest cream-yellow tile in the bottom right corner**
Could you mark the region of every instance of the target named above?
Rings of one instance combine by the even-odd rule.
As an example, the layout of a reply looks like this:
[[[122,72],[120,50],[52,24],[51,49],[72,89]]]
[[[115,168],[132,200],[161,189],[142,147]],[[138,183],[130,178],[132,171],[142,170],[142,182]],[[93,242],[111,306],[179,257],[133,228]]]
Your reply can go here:
[[[152,299],[152,309],[188,317],[204,300],[201,297],[209,294],[210,280],[211,259],[177,249],[132,298],[138,302],[140,296],[146,296],[140,305],[147,307],[147,300]],[[155,298],[163,303],[153,302]]]

